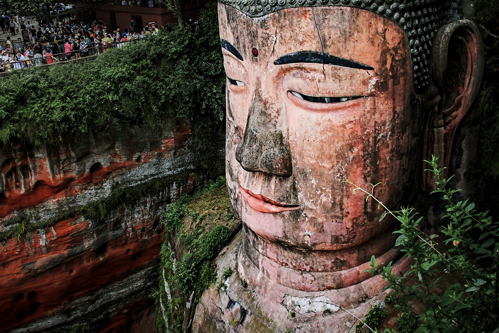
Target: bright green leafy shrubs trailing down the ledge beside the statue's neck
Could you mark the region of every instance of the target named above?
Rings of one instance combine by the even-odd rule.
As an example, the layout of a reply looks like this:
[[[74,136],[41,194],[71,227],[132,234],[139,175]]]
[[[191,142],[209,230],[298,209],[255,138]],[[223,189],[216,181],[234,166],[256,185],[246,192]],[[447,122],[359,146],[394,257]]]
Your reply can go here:
[[[164,241],[160,254],[163,267],[163,277],[159,283],[157,307],[158,332],[169,332],[171,330],[183,330],[184,306],[187,302],[198,303],[203,292],[216,280],[216,271],[212,261],[215,259],[222,247],[229,241],[229,229],[222,224],[217,225],[210,232],[204,234],[203,229],[186,232],[183,219],[192,217],[199,223],[204,215],[190,208],[190,202],[200,196],[213,196],[225,188],[225,177],[209,184],[217,186],[205,186],[204,190],[198,191],[194,196],[183,196],[170,205],[168,211],[162,214],[166,229],[170,237]],[[211,187],[207,191],[206,187]],[[172,243],[170,243],[172,242]],[[172,244],[183,247],[184,255],[181,260],[176,260]],[[231,273],[224,271],[223,276]],[[167,291],[166,289],[169,288]],[[169,324],[165,324],[165,319]],[[175,324],[177,322],[177,324]],[[171,326],[171,327],[166,327]]]

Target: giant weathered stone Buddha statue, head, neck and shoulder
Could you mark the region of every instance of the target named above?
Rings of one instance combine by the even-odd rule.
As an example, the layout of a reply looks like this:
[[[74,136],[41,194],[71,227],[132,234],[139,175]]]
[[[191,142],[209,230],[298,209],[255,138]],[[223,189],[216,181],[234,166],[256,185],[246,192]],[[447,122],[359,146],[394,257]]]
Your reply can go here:
[[[449,164],[484,66],[478,29],[458,7],[219,0],[226,175],[244,223],[236,270],[248,287],[204,297],[195,331],[349,332],[352,315],[385,295],[381,278],[364,272],[371,256],[407,270],[396,220],[380,219],[377,202],[343,181],[380,183],[374,196],[392,210],[432,190],[423,160]]]

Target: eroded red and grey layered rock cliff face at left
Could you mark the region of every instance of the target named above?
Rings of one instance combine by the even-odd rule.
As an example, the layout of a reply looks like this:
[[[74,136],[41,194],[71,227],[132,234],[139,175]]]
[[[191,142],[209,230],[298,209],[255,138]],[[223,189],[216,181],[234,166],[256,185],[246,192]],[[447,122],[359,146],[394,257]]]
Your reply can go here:
[[[1,150],[1,332],[155,332],[160,214],[201,167],[183,123],[122,135]]]

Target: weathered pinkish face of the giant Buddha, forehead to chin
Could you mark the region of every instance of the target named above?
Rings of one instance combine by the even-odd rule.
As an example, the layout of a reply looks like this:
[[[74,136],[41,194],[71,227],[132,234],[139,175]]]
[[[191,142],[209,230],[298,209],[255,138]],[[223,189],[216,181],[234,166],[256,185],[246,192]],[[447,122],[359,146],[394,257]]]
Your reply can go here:
[[[243,222],[286,248],[393,246],[394,220],[344,181],[381,183],[374,195],[391,209],[416,187],[428,105],[413,97],[402,28],[343,6],[252,18],[219,4],[219,20],[227,182]]]

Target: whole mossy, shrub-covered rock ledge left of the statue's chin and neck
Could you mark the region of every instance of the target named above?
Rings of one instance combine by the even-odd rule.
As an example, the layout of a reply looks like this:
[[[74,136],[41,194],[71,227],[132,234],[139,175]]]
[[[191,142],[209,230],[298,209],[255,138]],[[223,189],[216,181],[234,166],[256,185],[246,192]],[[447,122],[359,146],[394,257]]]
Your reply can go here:
[[[221,199],[225,204],[221,204]],[[212,261],[229,241],[229,228],[235,223],[230,205],[225,177],[220,177],[194,196],[179,198],[162,214],[169,236],[160,252],[164,271],[157,298],[158,332],[167,331],[165,318],[171,326],[169,330],[183,332],[185,304],[198,303],[203,292],[216,281]],[[230,268],[225,269],[220,283],[233,273]]]

